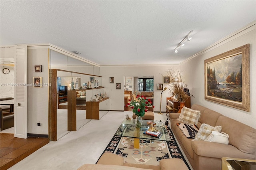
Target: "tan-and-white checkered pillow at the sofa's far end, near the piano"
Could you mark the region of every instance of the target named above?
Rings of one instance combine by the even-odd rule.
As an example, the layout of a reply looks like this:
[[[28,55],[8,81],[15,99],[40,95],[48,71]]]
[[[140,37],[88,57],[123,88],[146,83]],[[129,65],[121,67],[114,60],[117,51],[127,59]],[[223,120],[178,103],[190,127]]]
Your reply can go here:
[[[196,111],[188,107],[183,107],[180,112],[180,121],[190,125],[197,125],[200,115],[200,111]]]

